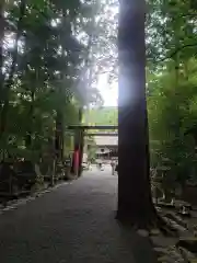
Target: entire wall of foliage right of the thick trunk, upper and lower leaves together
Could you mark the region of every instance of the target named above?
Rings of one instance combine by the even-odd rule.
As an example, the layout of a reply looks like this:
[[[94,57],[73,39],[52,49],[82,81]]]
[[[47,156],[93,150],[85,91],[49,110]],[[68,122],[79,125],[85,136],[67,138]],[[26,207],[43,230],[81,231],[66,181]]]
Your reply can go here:
[[[149,1],[147,82],[151,167],[165,187],[196,178],[196,8]],[[166,183],[167,182],[167,183]]]

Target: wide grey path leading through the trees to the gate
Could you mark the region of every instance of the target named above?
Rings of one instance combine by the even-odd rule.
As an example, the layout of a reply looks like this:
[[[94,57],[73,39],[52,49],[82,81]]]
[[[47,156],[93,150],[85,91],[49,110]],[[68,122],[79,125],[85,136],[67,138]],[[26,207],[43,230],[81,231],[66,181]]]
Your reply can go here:
[[[149,240],[114,219],[117,178],[86,172],[0,215],[2,263],[149,263]]]

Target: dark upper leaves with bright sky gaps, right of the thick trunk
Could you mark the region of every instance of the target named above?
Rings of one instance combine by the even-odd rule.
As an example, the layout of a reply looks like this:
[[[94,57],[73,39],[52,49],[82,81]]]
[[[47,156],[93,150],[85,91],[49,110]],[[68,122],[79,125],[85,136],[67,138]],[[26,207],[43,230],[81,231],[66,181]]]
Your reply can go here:
[[[196,57],[196,14],[190,0],[149,1],[147,45],[149,61]],[[151,65],[152,66],[152,65]],[[155,66],[155,65],[154,65]],[[158,68],[158,64],[157,64]]]

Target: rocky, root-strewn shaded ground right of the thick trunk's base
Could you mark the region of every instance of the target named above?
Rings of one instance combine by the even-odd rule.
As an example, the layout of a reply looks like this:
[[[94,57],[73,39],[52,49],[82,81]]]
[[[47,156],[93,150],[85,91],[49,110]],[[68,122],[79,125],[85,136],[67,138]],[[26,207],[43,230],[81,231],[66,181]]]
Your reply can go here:
[[[159,203],[159,215],[175,231],[163,235],[159,229],[152,229],[149,237],[162,263],[195,263],[197,262],[197,207],[183,201],[174,204]]]

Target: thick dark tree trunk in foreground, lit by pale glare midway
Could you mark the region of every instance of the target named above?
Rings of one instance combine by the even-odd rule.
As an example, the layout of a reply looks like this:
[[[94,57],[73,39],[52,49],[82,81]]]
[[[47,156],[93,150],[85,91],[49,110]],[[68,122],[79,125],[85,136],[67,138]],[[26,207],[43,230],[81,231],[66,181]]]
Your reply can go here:
[[[144,12],[144,0],[120,1],[117,219],[138,226],[155,216],[149,181]]]

